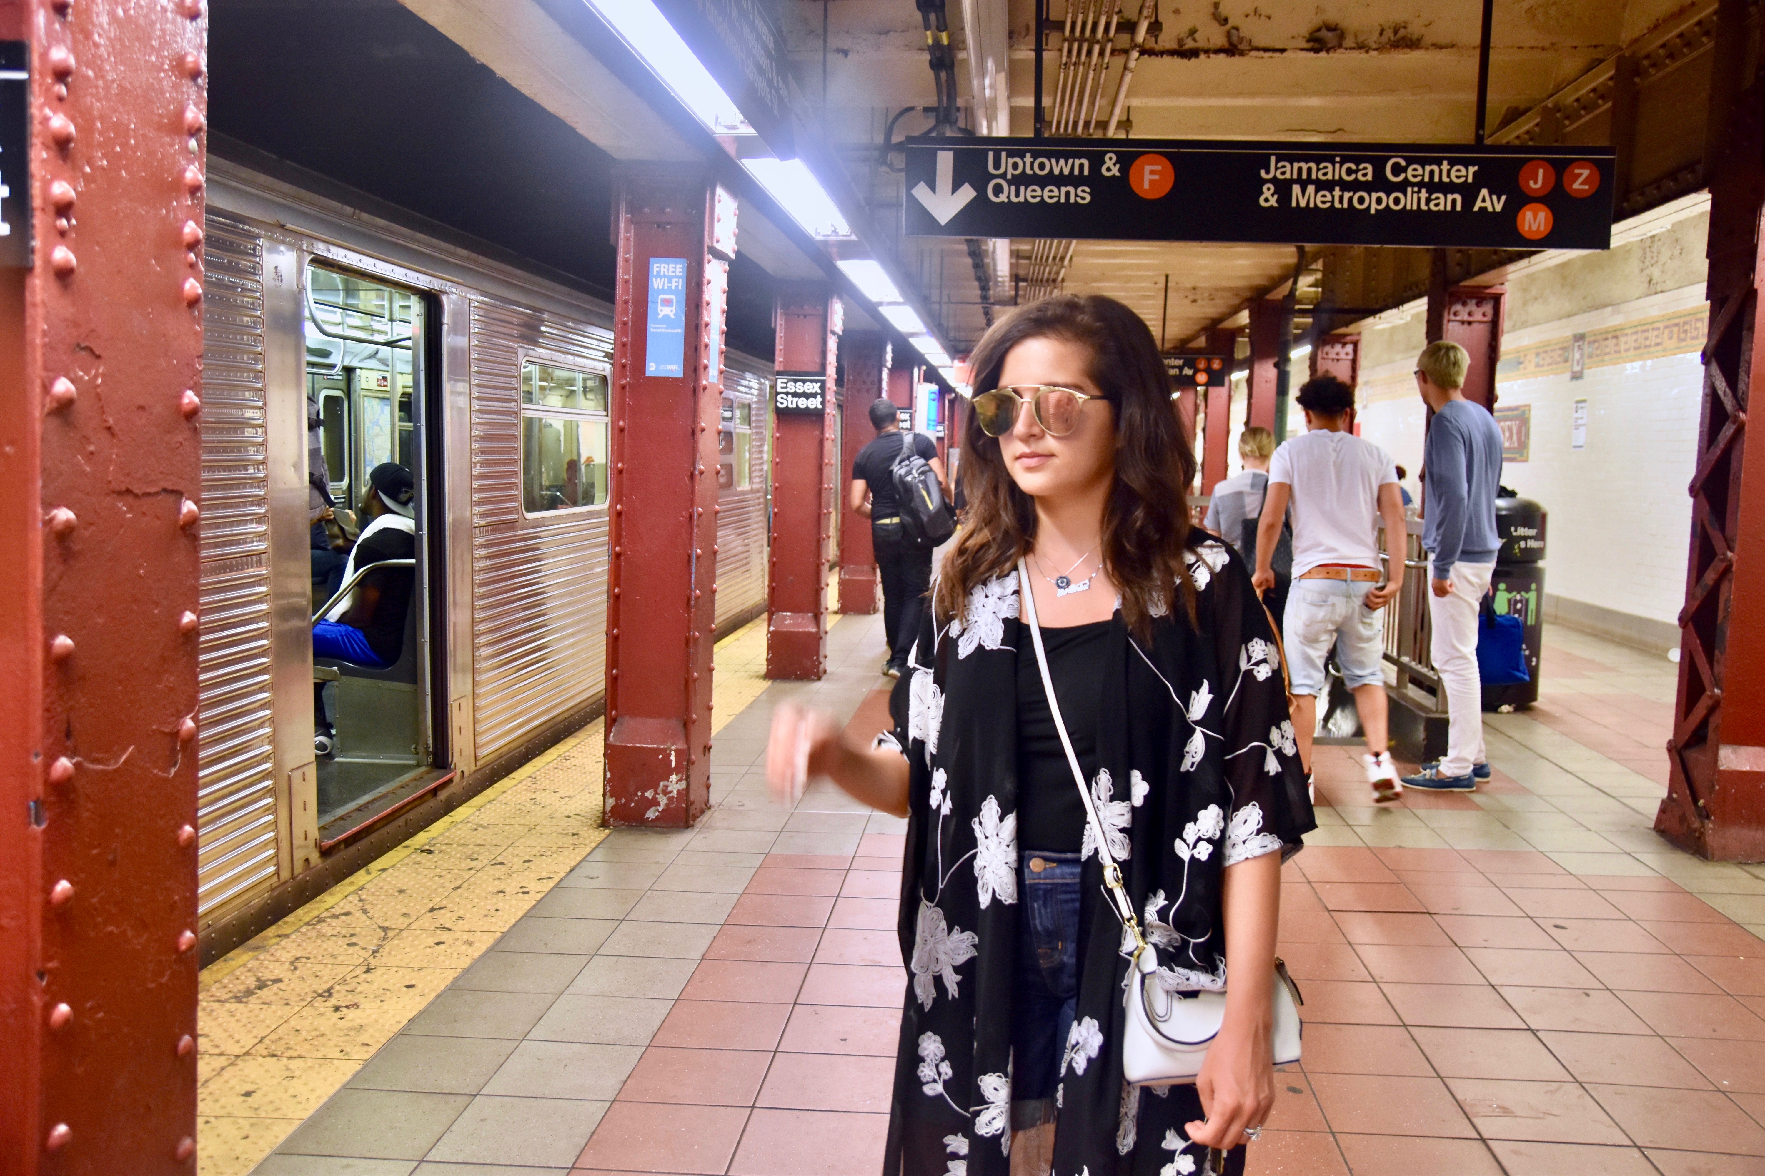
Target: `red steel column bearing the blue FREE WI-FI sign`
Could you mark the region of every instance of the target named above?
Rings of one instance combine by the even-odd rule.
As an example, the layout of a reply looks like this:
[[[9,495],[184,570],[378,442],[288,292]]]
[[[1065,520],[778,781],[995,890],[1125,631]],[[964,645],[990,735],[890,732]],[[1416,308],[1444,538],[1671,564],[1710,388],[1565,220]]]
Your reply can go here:
[[[616,201],[605,813],[609,825],[683,829],[711,802],[717,421],[736,201],[697,167],[632,167]],[[678,376],[646,374],[651,259],[685,261]]]

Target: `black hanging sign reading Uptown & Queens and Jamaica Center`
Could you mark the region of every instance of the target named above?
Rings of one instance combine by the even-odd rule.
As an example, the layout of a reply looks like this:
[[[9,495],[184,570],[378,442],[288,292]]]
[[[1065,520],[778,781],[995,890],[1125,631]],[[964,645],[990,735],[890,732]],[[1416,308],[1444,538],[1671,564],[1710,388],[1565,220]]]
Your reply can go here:
[[[962,139],[907,146],[907,236],[1604,249],[1603,146]]]

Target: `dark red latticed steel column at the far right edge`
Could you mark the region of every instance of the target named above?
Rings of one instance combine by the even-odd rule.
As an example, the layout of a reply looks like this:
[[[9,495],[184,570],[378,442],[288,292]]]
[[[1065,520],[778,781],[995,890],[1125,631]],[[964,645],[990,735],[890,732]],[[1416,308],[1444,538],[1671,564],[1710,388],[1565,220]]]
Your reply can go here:
[[[1717,44],[1744,60],[1746,5],[1717,9]],[[1656,830],[1714,860],[1765,859],[1765,444],[1749,444],[1765,388],[1765,78],[1710,102],[1710,333],[1703,346],[1691,561]]]

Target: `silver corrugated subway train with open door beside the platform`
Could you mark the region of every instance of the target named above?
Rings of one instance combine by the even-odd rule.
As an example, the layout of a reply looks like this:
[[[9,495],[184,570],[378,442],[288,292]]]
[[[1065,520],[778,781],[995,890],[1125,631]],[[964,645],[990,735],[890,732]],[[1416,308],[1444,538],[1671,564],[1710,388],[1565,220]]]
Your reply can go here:
[[[221,159],[205,233],[210,956],[286,883],[358,864],[339,850],[598,714],[612,310]],[[771,374],[725,356],[720,633],[766,605]],[[408,502],[371,494],[387,464]],[[353,566],[388,524],[408,557]],[[312,622],[360,599],[378,659],[314,656]]]

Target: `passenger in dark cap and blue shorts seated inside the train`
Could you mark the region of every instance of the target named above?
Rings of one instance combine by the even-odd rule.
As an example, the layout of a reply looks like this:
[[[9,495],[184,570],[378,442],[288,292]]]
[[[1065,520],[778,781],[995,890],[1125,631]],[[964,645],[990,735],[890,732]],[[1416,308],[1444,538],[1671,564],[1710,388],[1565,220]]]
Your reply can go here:
[[[411,471],[395,462],[376,465],[362,495],[362,538],[342,569],[348,584],[358,568],[387,559],[417,559],[417,499]],[[411,607],[411,571],[388,568],[364,577],[355,589],[312,622],[312,654],[365,666],[388,666],[404,644],[404,615]],[[323,711],[321,711],[323,714]]]

